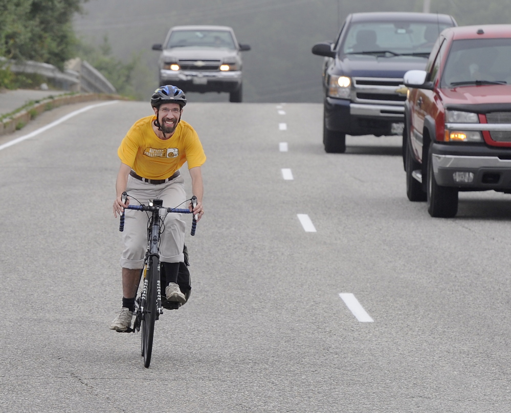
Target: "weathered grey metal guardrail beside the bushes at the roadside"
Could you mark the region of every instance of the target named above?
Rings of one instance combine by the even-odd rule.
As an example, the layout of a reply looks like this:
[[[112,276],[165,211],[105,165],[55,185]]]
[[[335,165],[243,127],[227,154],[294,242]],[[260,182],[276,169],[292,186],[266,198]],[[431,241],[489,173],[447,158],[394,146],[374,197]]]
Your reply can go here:
[[[64,72],[52,64],[40,63],[32,60],[16,62],[0,57],[0,66],[8,67],[15,73],[38,74],[58,85],[63,90],[90,93],[116,93],[116,89],[91,64],[79,58],[70,60]]]

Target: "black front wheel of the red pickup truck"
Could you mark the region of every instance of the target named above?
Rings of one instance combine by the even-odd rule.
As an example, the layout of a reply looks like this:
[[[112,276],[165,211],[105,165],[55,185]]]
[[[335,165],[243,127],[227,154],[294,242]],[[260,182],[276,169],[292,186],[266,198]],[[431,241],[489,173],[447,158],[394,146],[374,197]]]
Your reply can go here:
[[[453,218],[458,212],[458,190],[436,184],[433,156],[428,156],[428,212],[434,218]]]

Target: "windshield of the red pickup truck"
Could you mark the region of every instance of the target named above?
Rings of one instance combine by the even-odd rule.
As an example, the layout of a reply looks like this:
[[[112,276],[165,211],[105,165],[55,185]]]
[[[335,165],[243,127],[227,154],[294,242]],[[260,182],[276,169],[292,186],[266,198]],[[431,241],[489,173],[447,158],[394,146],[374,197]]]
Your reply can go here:
[[[440,87],[511,83],[511,39],[455,40]]]

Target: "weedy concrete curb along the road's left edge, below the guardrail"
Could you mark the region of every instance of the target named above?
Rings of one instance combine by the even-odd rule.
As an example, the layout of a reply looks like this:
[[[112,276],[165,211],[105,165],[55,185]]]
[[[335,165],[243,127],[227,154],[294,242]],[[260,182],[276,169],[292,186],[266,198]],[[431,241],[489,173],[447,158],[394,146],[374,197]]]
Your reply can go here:
[[[62,105],[88,102],[91,100],[129,100],[124,96],[109,95],[104,93],[80,93],[76,95],[56,96],[53,99],[41,100],[32,106],[26,107],[23,111],[16,113],[10,118],[0,122],[0,136],[11,134],[27,125],[32,119],[42,112],[50,111]]]

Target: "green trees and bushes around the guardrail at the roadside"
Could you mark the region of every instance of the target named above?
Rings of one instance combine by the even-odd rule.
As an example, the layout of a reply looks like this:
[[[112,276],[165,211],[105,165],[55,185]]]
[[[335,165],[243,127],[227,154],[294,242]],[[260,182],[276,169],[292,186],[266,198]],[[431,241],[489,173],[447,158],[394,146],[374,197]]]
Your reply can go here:
[[[14,73],[10,62],[33,60],[64,70],[80,57],[98,69],[121,95],[137,98],[135,79],[144,73],[141,56],[116,58],[108,39],[91,46],[78,39],[73,17],[87,0],[0,0],[0,89],[36,88],[50,82],[40,75]]]

